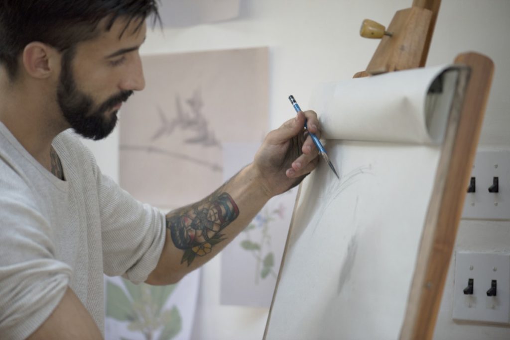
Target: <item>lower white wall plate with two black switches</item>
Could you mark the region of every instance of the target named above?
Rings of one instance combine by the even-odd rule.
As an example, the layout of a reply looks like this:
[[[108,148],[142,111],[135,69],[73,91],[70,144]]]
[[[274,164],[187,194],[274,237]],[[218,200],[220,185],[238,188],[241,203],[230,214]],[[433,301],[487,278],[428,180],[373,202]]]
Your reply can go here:
[[[464,294],[473,279],[473,294]],[[491,281],[497,282],[496,296],[487,296]],[[453,289],[453,319],[509,323],[510,254],[457,251]]]

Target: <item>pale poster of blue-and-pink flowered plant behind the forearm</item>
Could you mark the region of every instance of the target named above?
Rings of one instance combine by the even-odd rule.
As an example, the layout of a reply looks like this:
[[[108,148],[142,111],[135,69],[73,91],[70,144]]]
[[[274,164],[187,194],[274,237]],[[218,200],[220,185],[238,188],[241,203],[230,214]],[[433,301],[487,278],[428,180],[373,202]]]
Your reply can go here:
[[[223,146],[225,179],[250,163],[260,144]],[[269,307],[282,262],[297,188],[273,197],[221,252],[220,303]]]

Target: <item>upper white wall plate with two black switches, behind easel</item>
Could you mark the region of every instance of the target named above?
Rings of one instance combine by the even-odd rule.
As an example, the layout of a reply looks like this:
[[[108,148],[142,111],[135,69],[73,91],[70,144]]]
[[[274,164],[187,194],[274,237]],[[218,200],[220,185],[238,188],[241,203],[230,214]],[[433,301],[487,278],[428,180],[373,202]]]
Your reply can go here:
[[[510,152],[478,151],[471,172],[476,191],[468,192],[463,219],[510,219]],[[494,177],[499,179],[499,192],[489,192]],[[466,183],[466,190],[469,183]]]

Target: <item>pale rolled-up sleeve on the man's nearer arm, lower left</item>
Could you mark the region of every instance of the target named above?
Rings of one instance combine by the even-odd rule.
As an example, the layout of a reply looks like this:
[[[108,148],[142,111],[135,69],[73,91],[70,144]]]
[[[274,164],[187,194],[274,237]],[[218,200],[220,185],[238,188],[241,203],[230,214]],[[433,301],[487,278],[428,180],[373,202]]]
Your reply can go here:
[[[52,231],[28,190],[0,190],[0,334],[26,338],[53,312],[67,290],[71,268],[55,259]]]

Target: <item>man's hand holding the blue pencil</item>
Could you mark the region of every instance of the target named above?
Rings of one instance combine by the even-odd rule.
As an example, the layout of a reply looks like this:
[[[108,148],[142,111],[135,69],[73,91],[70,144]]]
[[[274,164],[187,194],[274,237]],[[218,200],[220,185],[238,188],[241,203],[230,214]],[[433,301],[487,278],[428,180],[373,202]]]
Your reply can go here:
[[[308,130],[320,138],[317,114],[299,112],[296,118],[269,132],[255,155],[253,165],[270,196],[298,185],[317,166],[319,153],[304,129],[305,120],[308,120]]]

